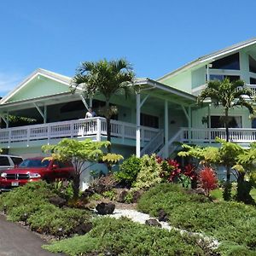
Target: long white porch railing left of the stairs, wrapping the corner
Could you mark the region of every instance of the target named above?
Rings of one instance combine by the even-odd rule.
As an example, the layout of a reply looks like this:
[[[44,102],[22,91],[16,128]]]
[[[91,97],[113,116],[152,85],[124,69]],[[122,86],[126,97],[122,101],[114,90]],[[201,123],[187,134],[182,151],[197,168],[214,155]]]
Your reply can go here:
[[[136,138],[136,125],[116,120],[111,120],[111,132],[113,137],[125,139]],[[159,129],[141,126],[141,139],[150,141],[159,132]],[[62,137],[96,137],[100,141],[107,135],[106,119],[101,117],[91,119],[76,119],[63,122],[48,123],[42,125],[26,125],[20,127],[0,129],[1,143],[26,142],[48,140]]]

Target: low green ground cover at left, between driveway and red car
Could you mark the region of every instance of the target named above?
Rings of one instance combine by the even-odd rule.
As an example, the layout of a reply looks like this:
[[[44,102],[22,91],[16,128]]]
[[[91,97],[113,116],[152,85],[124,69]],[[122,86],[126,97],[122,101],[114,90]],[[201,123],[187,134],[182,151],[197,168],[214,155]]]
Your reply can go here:
[[[90,223],[90,213],[69,207],[56,207],[49,202],[55,197],[51,185],[44,181],[0,195],[0,209],[11,221],[24,221],[32,230],[53,236],[69,236],[81,224]]]

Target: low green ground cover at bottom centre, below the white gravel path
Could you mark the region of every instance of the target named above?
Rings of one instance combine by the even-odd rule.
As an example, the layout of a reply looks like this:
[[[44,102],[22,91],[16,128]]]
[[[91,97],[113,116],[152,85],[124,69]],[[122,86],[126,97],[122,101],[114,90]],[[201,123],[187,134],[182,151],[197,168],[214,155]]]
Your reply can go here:
[[[86,235],[55,241],[44,248],[73,256],[214,255],[210,254],[207,243],[200,243],[198,237],[136,224],[127,218],[96,218],[93,230]]]

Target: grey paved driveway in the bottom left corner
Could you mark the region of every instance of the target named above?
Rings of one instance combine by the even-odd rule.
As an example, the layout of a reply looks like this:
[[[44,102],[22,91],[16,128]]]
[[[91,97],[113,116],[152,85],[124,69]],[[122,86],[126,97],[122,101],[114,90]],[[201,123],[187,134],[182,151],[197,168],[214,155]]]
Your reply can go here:
[[[19,224],[6,221],[0,215],[0,255],[1,256],[53,256],[63,255],[49,253],[42,249],[46,242]]]

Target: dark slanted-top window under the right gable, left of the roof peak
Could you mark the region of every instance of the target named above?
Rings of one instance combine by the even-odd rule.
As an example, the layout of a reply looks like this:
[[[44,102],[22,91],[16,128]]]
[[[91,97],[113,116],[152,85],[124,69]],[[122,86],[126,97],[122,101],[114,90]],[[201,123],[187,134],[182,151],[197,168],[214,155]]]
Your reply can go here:
[[[210,68],[240,70],[239,53],[213,61]]]

